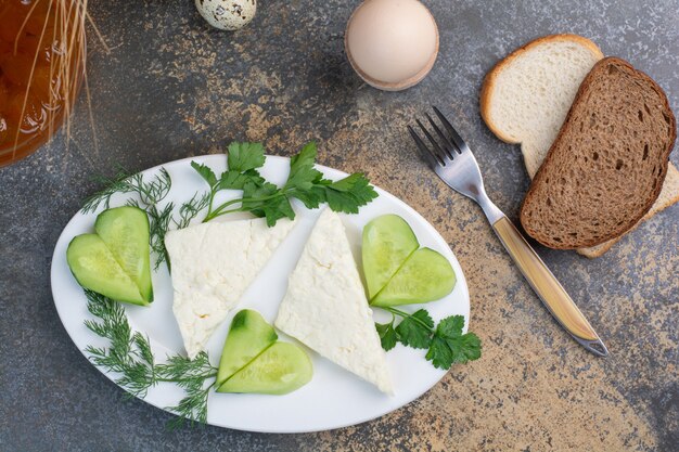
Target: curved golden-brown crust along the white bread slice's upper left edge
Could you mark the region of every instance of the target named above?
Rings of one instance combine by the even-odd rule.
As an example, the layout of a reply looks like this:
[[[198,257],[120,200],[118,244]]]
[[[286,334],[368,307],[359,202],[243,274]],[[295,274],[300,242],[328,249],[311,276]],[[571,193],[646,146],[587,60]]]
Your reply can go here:
[[[591,40],[582,36],[572,35],[572,34],[548,35],[541,38],[534,39],[527,44],[516,49],[515,51],[510,53],[508,56],[500,60],[494,66],[494,68],[490,69],[488,74],[486,74],[486,77],[484,78],[484,82],[481,88],[481,95],[479,95],[481,116],[482,118],[484,118],[484,121],[486,122],[486,126],[488,126],[490,131],[495,133],[495,135],[498,137],[500,140],[504,141],[505,143],[517,144],[517,143],[521,143],[521,141],[512,140],[510,137],[504,134],[502,130],[500,130],[500,128],[495,125],[495,122],[492,121],[492,118],[490,117],[490,104],[492,103],[492,94],[495,92],[495,85],[499,75],[502,73],[502,70],[504,70],[504,68],[509,64],[511,64],[514,60],[520,57],[526,51],[531,50],[533,48],[541,46],[546,42],[559,42],[559,41],[577,42],[579,44],[582,44],[589,48],[591,52],[599,55],[600,59],[604,57],[603,53],[601,52],[601,49],[599,49],[599,47],[594,42],[592,42]]]

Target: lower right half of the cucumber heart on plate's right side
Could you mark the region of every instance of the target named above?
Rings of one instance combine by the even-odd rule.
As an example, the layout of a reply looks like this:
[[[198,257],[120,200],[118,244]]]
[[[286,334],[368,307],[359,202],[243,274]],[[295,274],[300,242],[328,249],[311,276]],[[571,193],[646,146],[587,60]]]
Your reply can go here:
[[[448,259],[431,248],[414,251],[371,301],[389,307],[434,301],[452,292],[456,274]]]

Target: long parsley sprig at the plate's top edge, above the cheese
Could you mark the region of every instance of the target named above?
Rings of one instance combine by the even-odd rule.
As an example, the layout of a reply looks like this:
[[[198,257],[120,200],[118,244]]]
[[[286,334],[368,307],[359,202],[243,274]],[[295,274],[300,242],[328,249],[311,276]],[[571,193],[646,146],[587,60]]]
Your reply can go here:
[[[306,144],[290,162],[290,175],[282,188],[267,181],[258,169],[264,166],[264,147],[259,143],[231,143],[228,169],[219,178],[207,166],[192,162],[191,166],[210,188],[208,210],[204,222],[226,214],[246,211],[266,218],[272,227],[281,218],[295,218],[291,199],[299,199],[313,209],[323,203],[335,211],[357,214],[358,208],[377,196],[363,173],[357,172],[340,181],[323,178],[313,168],[317,156],[315,142]],[[215,205],[215,196],[222,190],[241,190],[243,196]]]

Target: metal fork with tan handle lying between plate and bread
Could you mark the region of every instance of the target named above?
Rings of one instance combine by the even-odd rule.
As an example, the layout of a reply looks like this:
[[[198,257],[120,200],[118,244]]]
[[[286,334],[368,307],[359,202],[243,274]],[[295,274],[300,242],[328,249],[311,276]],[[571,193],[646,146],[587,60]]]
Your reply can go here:
[[[422,156],[448,186],[478,203],[514,263],[561,326],[587,350],[600,357],[607,356],[606,346],[556,277],[509,218],[488,198],[478,164],[470,147],[438,108],[434,107],[434,113],[444,126],[444,130],[428,114],[425,113],[425,116],[436,137],[430,133],[420,119],[415,119],[431,146],[412,127],[408,126]]]

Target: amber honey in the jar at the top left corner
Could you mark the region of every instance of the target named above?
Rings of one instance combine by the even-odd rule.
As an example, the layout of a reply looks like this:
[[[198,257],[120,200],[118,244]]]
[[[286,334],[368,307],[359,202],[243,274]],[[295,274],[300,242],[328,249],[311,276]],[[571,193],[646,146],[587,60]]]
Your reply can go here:
[[[68,116],[82,78],[78,0],[0,0],[0,166],[44,144]]]

